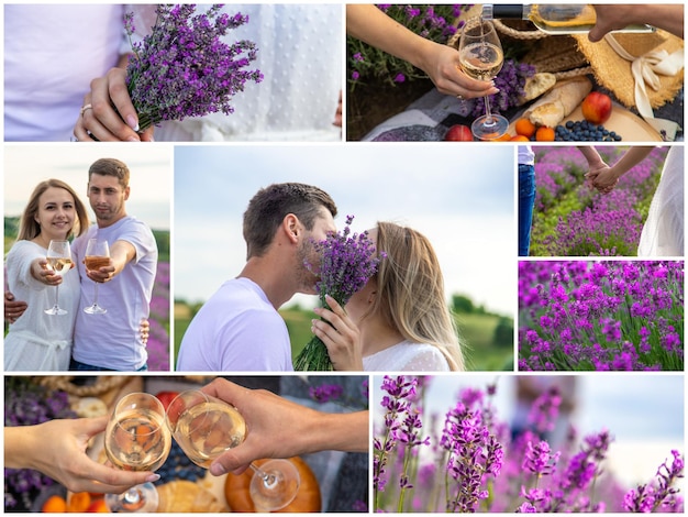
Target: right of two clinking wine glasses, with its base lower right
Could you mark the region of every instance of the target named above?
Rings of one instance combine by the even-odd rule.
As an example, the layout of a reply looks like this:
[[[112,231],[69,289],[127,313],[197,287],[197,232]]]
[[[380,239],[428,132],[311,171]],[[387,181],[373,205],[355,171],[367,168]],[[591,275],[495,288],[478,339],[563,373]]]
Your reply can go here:
[[[246,437],[246,421],[238,410],[199,389],[180,393],[167,407],[167,425],[189,459],[208,469],[215,458]],[[288,460],[251,464],[251,498],[257,512],[274,512],[293,501],[301,479]]]

